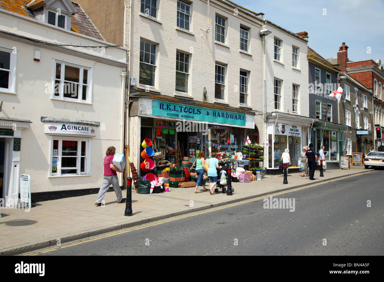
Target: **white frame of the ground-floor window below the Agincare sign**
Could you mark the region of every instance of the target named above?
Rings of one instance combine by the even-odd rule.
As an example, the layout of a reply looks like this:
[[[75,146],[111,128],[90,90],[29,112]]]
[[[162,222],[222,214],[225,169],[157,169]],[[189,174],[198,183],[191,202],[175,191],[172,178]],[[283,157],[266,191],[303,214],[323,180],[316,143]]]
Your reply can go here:
[[[91,175],[91,139],[87,137],[72,137],[72,136],[51,136],[50,137],[50,165],[48,168],[48,175],[51,177],[73,177],[73,176],[90,176]],[[53,140],[59,140],[58,143],[58,155],[53,155]],[[76,169],[78,173],[74,174],[61,174],[61,158],[63,157],[63,140],[65,141],[77,141],[77,152],[76,156]],[[85,164],[84,164],[84,172],[80,172],[81,170],[81,142],[85,141],[86,149],[85,149]],[[53,157],[58,158],[56,173],[52,173],[52,164]]]

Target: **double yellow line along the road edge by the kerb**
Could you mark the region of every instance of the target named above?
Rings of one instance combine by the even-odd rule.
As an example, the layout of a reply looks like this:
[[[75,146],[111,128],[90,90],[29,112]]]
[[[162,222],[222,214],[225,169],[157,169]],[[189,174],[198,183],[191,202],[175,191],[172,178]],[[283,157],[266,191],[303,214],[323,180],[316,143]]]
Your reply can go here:
[[[369,172],[364,172],[364,173],[369,173]],[[210,213],[210,212],[213,212],[213,211],[218,211],[220,209],[226,209],[226,208],[230,208],[230,207],[233,207],[233,206],[238,206],[240,204],[246,204],[246,203],[250,203],[250,202],[253,202],[253,201],[257,201],[257,200],[262,200],[262,199],[265,199],[265,198],[269,198],[270,196],[278,196],[278,195],[282,195],[282,194],[286,194],[286,193],[290,193],[290,192],[300,191],[300,190],[303,190],[303,189],[306,189],[306,188],[311,188],[311,187],[314,187],[314,186],[318,186],[318,185],[321,185],[321,184],[326,184],[326,183],[333,182],[333,181],[336,181],[336,180],[342,180],[342,179],[346,179],[346,178],[350,178],[350,177],[354,177],[354,176],[358,176],[358,175],[363,175],[364,173],[350,175],[350,176],[346,176],[346,177],[342,177],[342,178],[336,178],[334,180],[328,180],[328,181],[324,181],[324,182],[317,182],[317,183],[314,183],[313,185],[307,185],[307,186],[300,187],[300,188],[295,188],[295,189],[292,189],[292,190],[281,191],[281,192],[274,193],[274,194],[271,194],[271,195],[260,196],[260,197],[257,197],[257,198],[252,198],[252,199],[249,199],[249,200],[245,200],[245,201],[241,201],[241,202],[237,202],[237,203],[233,203],[233,204],[227,204],[225,206],[220,206],[220,207],[217,207],[217,208],[206,209],[204,211],[197,211],[195,213],[189,213],[189,214],[185,214],[185,215],[181,215],[181,216],[175,216],[175,217],[172,217],[172,218],[163,219],[163,220],[156,221],[156,222],[153,222],[153,223],[146,223],[146,224],[142,224],[140,226],[131,227],[131,228],[120,230],[120,231],[115,231],[115,232],[112,232],[112,233],[104,234],[104,235],[101,235],[101,236],[98,236],[98,237],[93,237],[92,239],[88,239],[88,240],[84,240],[84,241],[79,241],[79,242],[76,242],[76,243],[73,243],[73,244],[69,244],[69,245],[66,245],[66,246],[53,247],[53,248],[48,249],[46,251],[40,251],[40,252],[36,252],[36,253],[33,253],[33,254],[29,254],[28,256],[36,256],[36,255],[39,255],[39,254],[45,254],[47,252],[52,252],[52,251],[55,251],[55,250],[58,250],[58,249],[64,249],[64,248],[67,248],[67,247],[72,247],[72,246],[76,246],[76,245],[79,245],[79,244],[84,244],[84,243],[87,243],[87,242],[92,242],[92,241],[96,241],[96,240],[99,240],[99,239],[104,239],[104,238],[108,238],[108,237],[111,237],[111,236],[128,233],[128,232],[131,232],[131,231],[134,231],[134,230],[139,230],[139,229],[143,229],[143,228],[147,228],[147,227],[151,227],[151,226],[156,226],[156,225],[159,225],[159,224],[164,224],[164,223],[167,223],[167,222],[171,222],[171,221],[175,221],[175,220],[179,220],[179,219],[183,219],[183,218],[189,218],[189,217],[198,216],[198,215],[204,214],[204,213]]]

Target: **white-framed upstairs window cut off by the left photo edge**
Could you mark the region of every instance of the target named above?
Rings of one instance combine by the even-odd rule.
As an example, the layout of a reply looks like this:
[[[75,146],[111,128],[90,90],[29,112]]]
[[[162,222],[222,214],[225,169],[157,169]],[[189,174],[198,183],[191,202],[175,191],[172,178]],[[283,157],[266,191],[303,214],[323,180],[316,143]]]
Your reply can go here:
[[[16,87],[16,49],[0,47],[0,91],[14,93]]]

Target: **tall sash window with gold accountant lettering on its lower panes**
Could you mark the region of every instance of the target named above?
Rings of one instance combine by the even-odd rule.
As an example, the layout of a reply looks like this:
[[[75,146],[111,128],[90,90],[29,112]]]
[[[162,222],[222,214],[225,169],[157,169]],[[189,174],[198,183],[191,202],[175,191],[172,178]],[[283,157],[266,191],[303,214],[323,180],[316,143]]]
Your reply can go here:
[[[139,84],[155,86],[156,45],[140,40]]]

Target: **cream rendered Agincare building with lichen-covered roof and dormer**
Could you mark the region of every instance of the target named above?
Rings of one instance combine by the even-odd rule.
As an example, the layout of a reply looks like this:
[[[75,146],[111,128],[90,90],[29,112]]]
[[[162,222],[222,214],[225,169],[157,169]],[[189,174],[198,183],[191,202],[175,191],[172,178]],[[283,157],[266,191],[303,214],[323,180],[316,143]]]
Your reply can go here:
[[[17,202],[20,174],[32,201],[97,191],[122,147],[126,49],[69,0],[0,0],[0,38],[0,198]]]

